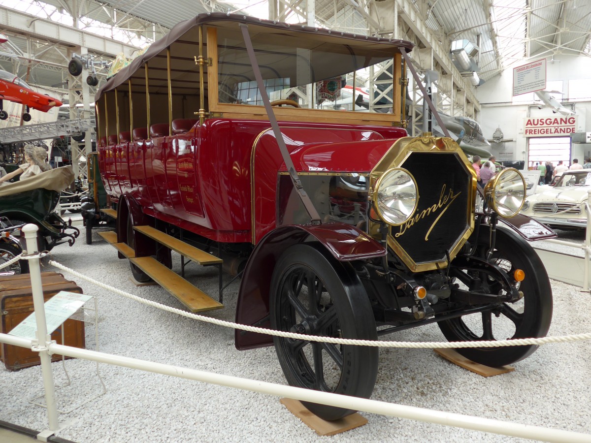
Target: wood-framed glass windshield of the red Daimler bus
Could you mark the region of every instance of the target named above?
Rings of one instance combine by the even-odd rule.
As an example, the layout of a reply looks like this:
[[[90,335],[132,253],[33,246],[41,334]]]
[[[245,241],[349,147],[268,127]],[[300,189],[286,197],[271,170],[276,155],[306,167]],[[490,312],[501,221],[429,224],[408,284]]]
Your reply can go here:
[[[263,106],[241,32],[217,37],[219,102]],[[300,108],[392,112],[392,54],[335,44],[320,35],[286,35],[249,27],[256,60],[271,102],[292,100]],[[378,74],[369,90],[369,79]],[[373,97],[372,97],[373,96]]]

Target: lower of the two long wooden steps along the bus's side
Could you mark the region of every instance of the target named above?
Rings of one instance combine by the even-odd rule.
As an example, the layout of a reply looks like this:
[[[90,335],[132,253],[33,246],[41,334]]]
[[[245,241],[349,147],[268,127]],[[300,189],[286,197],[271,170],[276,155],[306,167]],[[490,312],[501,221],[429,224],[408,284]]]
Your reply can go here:
[[[191,285],[188,281],[171,271],[158,260],[151,257],[136,257],[129,259],[139,269],[147,273],[155,282],[166,289],[191,312],[210,311],[223,308],[223,305],[201,289]]]

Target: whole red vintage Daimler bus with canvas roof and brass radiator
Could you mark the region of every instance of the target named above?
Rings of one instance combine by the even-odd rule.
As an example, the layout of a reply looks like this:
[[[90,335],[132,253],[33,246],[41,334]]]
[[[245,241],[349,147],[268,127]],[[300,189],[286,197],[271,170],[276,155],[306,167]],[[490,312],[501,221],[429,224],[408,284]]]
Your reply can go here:
[[[411,49],[230,14],[178,24],[96,96],[117,217],[105,237],[139,280],[176,278],[164,273],[171,250],[238,273],[242,324],[366,340],[431,323],[452,341],[543,336],[551,288],[527,240],[554,233],[518,215],[517,171],[491,180],[478,212],[475,171],[456,142],[407,136]],[[389,90],[393,103],[342,99],[372,69],[391,84],[370,93]],[[176,295],[193,311],[222,307],[186,292]],[[375,347],[244,331],[235,341],[274,343],[291,385],[374,389]],[[535,348],[459,351],[501,366]],[[330,420],[352,412],[307,407]]]

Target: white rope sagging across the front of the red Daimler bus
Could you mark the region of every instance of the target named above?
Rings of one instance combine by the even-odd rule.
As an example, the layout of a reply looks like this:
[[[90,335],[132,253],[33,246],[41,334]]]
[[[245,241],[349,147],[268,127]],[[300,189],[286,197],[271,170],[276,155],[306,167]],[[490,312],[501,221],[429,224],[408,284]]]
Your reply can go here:
[[[524,345],[542,345],[549,343],[570,343],[572,341],[582,341],[591,339],[591,333],[585,334],[574,334],[574,335],[558,335],[554,337],[541,337],[541,338],[514,338],[512,340],[479,340],[479,341],[452,341],[452,342],[438,342],[438,341],[427,341],[424,343],[417,343],[414,341],[381,341],[381,340],[355,340],[352,338],[336,338],[336,337],[319,337],[317,335],[306,335],[296,334],[286,331],[275,331],[272,329],[259,328],[256,326],[242,325],[238,323],[232,323],[230,321],[218,320],[217,318],[206,317],[204,315],[192,314],[177,308],[172,308],[161,303],[147,300],[145,298],[138,297],[137,295],[130,294],[129,292],[122,291],[121,289],[114,288],[113,286],[99,282],[93,278],[90,278],[80,272],[76,272],[73,269],[67,268],[67,266],[61,265],[54,260],[50,260],[50,265],[75,275],[87,282],[95,284],[100,288],[107,289],[108,291],[114,292],[115,294],[122,295],[123,297],[132,299],[139,303],[155,307],[164,311],[172,312],[173,314],[182,315],[183,317],[193,318],[194,320],[204,321],[219,326],[228,328],[238,329],[242,331],[276,335],[277,337],[295,338],[296,340],[306,341],[319,341],[322,343],[333,343],[333,344],[355,344],[359,346],[376,346],[376,347],[387,347],[387,348],[476,348],[476,347],[500,347],[500,346],[524,346]]]

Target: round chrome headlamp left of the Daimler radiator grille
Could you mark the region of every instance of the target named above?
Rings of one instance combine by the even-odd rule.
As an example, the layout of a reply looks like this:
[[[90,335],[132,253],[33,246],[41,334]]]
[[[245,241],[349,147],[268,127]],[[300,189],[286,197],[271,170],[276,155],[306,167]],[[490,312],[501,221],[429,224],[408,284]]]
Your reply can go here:
[[[417,182],[404,168],[392,168],[376,182],[373,196],[379,217],[396,226],[406,222],[417,209]]]

